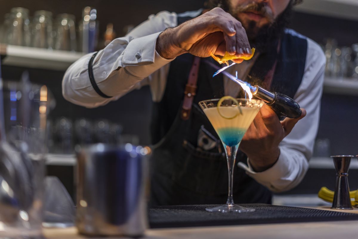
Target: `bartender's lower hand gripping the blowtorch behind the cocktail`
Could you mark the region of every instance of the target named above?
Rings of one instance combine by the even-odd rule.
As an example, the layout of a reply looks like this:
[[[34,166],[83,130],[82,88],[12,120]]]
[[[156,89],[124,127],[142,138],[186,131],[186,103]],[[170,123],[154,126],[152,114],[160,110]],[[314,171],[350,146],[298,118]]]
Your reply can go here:
[[[306,110],[301,110],[299,118],[280,121],[269,106],[262,106],[240,143],[240,149],[256,172],[265,171],[276,163],[280,156],[279,143],[306,115]]]

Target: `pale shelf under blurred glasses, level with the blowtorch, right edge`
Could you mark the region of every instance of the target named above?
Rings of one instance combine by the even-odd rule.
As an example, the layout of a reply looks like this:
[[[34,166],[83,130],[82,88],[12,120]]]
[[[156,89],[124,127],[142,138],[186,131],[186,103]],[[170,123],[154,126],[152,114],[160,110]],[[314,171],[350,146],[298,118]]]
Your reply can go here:
[[[323,92],[338,95],[358,96],[358,79],[326,77],[323,83]]]

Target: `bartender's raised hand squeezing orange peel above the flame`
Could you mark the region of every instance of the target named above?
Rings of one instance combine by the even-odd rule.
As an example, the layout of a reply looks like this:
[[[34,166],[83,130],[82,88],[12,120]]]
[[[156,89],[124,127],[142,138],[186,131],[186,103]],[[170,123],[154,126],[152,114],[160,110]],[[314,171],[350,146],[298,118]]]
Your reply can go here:
[[[172,59],[189,52],[208,57],[211,53],[224,56],[250,56],[251,47],[240,21],[221,8],[211,11],[162,32],[156,43],[160,56]],[[242,59],[237,63],[242,62]]]

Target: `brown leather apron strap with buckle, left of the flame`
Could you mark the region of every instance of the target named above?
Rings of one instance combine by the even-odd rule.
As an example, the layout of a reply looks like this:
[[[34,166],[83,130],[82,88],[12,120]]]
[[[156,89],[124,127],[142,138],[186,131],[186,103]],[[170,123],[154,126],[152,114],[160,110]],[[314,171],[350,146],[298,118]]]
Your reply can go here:
[[[200,57],[195,56],[192,68],[190,69],[187,85],[184,91],[184,102],[181,113],[183,120],[189,119],[190,110],[192,109],[193,99],[197,92],[198,72],[200,65]]]

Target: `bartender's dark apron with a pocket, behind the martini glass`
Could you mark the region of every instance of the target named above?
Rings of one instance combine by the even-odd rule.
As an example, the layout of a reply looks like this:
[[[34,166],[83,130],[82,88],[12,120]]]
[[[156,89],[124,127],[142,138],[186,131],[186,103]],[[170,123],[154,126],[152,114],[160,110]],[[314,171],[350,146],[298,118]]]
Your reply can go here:
[[[228,169],[222,145],[218,144],[212,150],[203,150],[197,145],[198,132],[202,127],[219,139],[198,105],[201,100],[223,96],[222,79],[208,77],[213,69],[208,71],[205,60],[210,58],[200,63],[197,95],[188,120],[180,117],[182,102],[175,101],[176,92],[181,92],[183,98],[183,76],[187,75],[184,69],[188,69],[192,60],[191,55],[185,54],[171,63],[163,100],[154,106],[168,113],[174,107],[176,116],[166,135],[154,145],[151,205],[224,204],[227,200]],[[178,72],[176,66],[182,66],[182,71]],[[246,160],[245,154],[239,152],[237,162]],[[233,185],[234,201],[237,203],[271,202],[270,191],[237,166]]]

